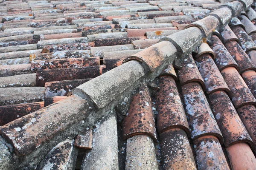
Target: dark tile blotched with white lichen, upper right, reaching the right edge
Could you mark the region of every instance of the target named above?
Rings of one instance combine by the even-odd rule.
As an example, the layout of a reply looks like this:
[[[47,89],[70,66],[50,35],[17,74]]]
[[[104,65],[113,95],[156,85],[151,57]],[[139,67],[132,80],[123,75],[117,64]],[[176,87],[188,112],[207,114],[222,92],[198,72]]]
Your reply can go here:
[[[233,26],[231,27],[232,31],[239,38],[241,42],[241,47],[247,53],[251,50],[256,50],[256,45],[253,40],[249,37],[249,35],[244,31],[241,26]]]

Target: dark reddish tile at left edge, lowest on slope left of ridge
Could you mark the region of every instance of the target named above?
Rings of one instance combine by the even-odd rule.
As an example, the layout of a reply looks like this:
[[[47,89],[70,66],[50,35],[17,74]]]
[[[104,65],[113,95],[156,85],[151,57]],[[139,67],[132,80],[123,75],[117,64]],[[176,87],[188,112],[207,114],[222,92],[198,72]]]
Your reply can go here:
[[[0,126],[44,107],[44,102],[0,106]]]

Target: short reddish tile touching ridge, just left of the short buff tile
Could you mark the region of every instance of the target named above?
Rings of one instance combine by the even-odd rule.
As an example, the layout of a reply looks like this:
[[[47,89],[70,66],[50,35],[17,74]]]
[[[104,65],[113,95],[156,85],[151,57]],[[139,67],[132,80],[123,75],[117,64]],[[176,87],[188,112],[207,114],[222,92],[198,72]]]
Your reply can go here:
[[[178,70],[178,75],[181,85],[185,85],[189,82],[199,82],[203,90],[205,91],[204,80],[191,54],[184,57],[183,67],[180,70]]]

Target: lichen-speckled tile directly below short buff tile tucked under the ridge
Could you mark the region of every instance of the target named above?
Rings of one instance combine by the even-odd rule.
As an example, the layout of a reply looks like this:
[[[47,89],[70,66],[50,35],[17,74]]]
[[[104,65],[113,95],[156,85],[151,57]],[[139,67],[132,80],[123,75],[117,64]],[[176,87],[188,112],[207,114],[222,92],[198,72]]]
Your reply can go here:
[[[201,55],[196,61],[199,66],[198,70],[204,79],[207,94],[219,90],[224,90],[230,94],[230,89],[228,88],[227,83],[209,53]]]

